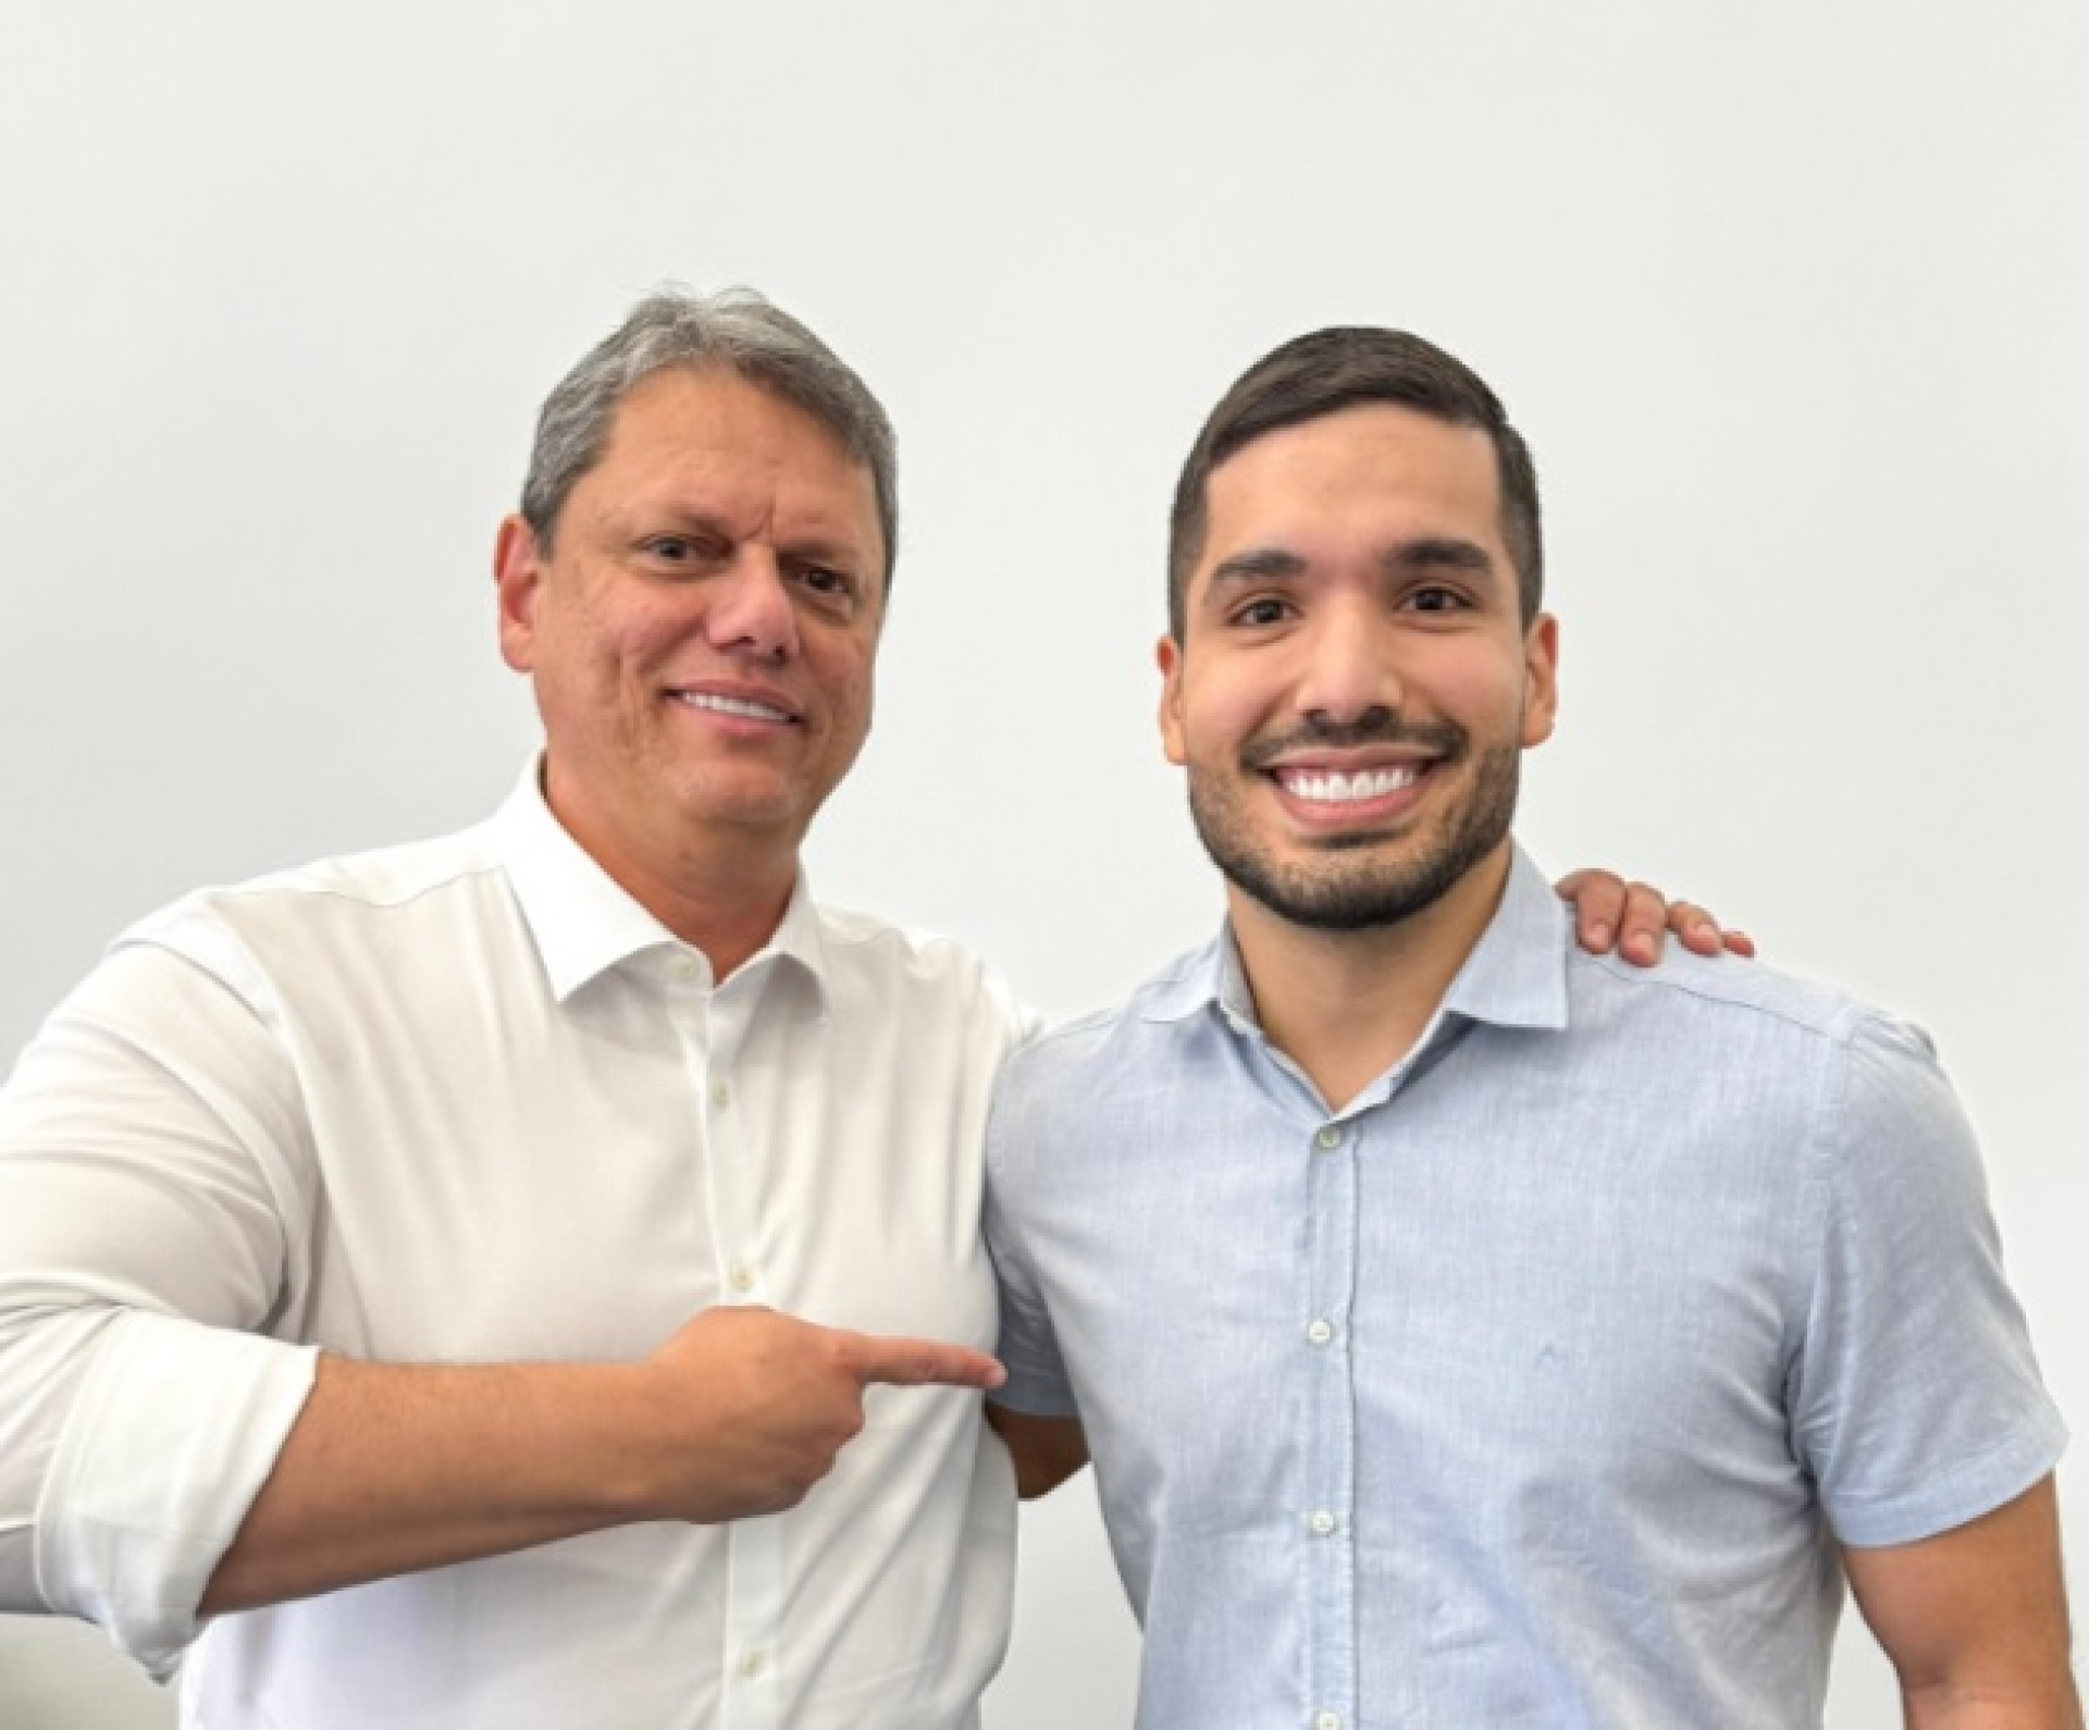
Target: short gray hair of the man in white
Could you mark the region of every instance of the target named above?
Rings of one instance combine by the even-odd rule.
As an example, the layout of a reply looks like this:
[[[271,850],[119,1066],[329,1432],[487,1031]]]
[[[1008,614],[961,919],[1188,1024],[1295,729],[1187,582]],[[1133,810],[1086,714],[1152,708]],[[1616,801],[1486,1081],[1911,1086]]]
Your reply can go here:
[[[589,349],[543,399],[522,483],[522,520],[551,550],[566,495],[602,462],[625,397],[656,372],[725,368],[804,410],[871,472],[886,537],[886,591],[900,547],[898,453],[892,422],[854,370],[804,324],[752,288],[694,295],[660,288]]]

